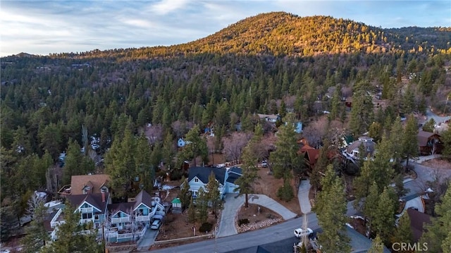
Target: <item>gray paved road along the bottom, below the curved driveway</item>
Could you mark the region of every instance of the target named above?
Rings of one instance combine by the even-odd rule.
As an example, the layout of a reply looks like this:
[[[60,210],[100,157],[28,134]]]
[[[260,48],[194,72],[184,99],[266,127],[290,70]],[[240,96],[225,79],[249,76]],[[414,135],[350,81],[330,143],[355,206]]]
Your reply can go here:
[[[316,214],[311,213],[307,215],[309,228],[313,230],[319,229],[318,219]],[[289,221],[279,223],[275,226],[264,228],[261,230],[254,230],[247,233],[240,233],[228,237],[219,237],[217,240],[217,252],[230,252],[237,249],[257,246],[265,243],[278,242],[293,237],[292,231],[302,226],[302,217],[292,218]],[[150,252],[150,251],[147,251]],[[166,249],[152,250],[152,252],[169,253],[169,252],[183,252],[183,253],[198,253],[198,252],[215,252],[215,240],[205,240],[202,242],[195,242],[189,245],[182,245],[178,247],[170,247]]]

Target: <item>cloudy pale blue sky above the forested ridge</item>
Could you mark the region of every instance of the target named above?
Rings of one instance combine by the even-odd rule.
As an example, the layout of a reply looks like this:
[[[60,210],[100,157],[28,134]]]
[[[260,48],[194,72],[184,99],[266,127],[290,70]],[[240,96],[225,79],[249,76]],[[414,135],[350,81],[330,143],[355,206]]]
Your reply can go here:
[[[377,27],[451,26],[451,1],[1,0],[0,56],[180,44],[271,11]]]

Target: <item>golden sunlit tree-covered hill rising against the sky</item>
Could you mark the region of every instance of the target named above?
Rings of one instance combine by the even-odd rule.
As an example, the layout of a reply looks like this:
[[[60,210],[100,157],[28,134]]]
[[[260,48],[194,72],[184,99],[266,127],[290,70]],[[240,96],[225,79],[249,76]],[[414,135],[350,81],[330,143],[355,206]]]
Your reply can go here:
[[[450,50],[450,41],[450,28],[381,29],[330,16],[299,17],[273,12],[245,18],[194,42],[171,47],[96,50],[79,56],[149,58],[202,53],[314,56],[358,52],[445,52]]]

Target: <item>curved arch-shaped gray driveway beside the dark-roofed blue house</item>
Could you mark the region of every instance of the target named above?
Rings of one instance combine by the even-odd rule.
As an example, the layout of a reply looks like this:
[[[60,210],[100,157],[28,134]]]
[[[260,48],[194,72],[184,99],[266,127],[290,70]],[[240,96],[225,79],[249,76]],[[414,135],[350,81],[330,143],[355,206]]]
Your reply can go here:
[[[235,228],[235,216],[237,215],[240,207],[245,204],[245,196],[236,194],[228,194],[225,199],[224,209],[221,214],[221,223],[219,225],[218,237],[225,237],[230,235],[236,235],[237,229]],[[249,203],[259,204],[272,211],[280,214],[284,220],[295,218],[297,215],[287,209],[285,206],[279,204],[274,199],[266,195],[249,195]]]

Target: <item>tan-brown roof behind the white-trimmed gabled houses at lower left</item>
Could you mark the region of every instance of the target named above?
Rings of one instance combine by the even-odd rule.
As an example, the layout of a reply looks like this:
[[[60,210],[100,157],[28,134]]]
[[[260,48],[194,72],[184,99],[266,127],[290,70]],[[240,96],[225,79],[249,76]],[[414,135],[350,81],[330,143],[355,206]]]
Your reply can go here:
[[[58,193],[61,197],[67,197],[110,192],[109,180],[110,176],[106,174],[73,175],[70,178],[70,185],[64,185]]]

